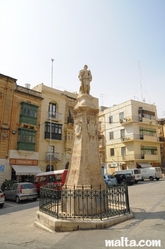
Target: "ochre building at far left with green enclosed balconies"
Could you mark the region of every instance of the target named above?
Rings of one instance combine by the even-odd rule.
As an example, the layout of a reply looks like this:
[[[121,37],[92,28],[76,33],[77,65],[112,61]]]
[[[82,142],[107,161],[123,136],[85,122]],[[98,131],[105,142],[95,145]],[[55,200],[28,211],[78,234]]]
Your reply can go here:
[[[0,184],[30,180],[38,167],[40,92],[0,74]]]

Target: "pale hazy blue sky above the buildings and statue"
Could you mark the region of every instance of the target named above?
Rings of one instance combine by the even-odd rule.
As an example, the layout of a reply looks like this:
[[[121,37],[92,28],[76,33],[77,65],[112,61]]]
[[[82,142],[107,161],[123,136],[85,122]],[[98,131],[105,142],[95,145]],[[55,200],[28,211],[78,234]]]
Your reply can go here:
[[[165,0],[0,0],[0,73],[31,87],[91,94],[112,106],[135,99],[165,116]]]

